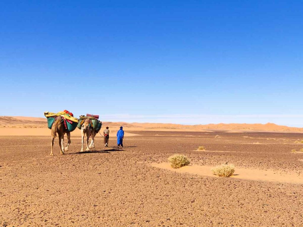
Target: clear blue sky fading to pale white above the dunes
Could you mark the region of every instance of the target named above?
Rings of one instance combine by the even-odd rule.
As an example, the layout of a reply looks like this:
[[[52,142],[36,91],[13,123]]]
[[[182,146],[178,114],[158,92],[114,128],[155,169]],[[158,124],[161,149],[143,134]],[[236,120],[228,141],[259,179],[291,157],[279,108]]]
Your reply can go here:
[[[0,115],[303,127],[302,1],[2,1]]]

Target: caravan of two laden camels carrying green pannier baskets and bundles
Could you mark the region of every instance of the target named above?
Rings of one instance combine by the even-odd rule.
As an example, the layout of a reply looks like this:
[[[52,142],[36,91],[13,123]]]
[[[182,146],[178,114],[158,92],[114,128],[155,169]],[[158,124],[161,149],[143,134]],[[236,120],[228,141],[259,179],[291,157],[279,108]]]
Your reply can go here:
[[[84,137],[86,136],[86,149],[85,151],[90,151],[90,148],[95,147],[95,136],[100,131],[102,127],[102,122],[99,121],[99,115],[86,114],[86,116],[81,115],[75,118],[72,112],[68,110],[60,111],[58,113],[44,112],[44,116],[47,118],[47,127],[52,130],[52,142],[51,142],[51,153],[54,155],[53,146],[54,140],[58,134],[59,137],[59,147],[60,153],[64,154],[68,151],[68,146],[71,143],[71,132],[76,128],[81,130],[82,136],[82,147],[81,152],[84,151]],[[64,146],[64,135],[66,133],[68,142],[67,146]],[[90,145],[88,145],[89,138],[92,138]]]

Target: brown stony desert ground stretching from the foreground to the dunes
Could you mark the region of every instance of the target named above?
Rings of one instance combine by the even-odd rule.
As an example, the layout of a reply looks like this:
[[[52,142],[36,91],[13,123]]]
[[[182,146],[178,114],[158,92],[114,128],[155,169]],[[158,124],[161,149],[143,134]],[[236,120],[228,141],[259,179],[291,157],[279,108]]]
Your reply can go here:
[[[56,138],[49,156],[45,120],[24,121],[0,129],[0,226],[303,226],[302,133],[125,126],[117,148],[107,123],[108,148],[98,135],[80,153],[76,129],[66,154]],[[191,164],[170,168],[175,153]],[[234,176],[211,174],[226,162]]]

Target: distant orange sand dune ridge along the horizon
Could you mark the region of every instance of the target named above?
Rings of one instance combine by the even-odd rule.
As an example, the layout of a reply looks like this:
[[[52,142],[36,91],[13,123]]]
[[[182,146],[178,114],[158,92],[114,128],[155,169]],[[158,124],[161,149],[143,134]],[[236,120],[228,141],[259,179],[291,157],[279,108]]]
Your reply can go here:
[[[101,118],[102,120],[102,118]],[[0,116],[0,130],[8,128],[47,128],[46,118],[42,117],[12,117]],[[293,132],[302,133],[303,128],[288,127],[276,125],[274,123],[267,124],[206,124],[206,125],[182,125],[170,123],[127,123],[127,122],[103,122],[102,127],[110,127],[112,130],[123,126],[128,131],[226,131],[226,132]],[[3,133],[1,133],[3,134]]]

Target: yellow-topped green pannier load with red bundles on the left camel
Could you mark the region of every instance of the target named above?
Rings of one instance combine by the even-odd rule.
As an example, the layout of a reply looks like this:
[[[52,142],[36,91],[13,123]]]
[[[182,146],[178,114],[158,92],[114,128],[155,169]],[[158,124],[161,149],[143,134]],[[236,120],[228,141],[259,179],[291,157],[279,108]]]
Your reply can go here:
[[[52,129],[53,123],[59,116],[62,117],[62,122],[69,132],[74,131],[78,125],[78,119],[73,117],[73,114],[67,110],[60,111],[58,113],[46,111],[44,112],[44,116],[47,118],[47,127],[49,129]]]

